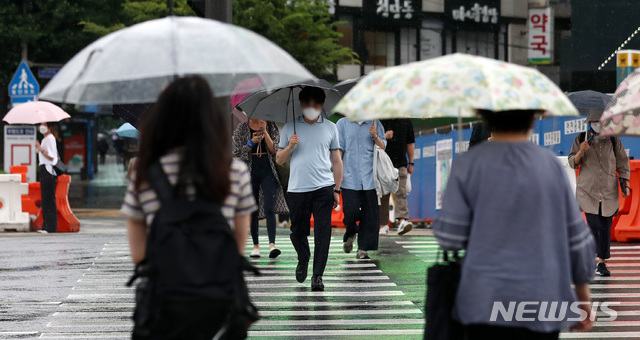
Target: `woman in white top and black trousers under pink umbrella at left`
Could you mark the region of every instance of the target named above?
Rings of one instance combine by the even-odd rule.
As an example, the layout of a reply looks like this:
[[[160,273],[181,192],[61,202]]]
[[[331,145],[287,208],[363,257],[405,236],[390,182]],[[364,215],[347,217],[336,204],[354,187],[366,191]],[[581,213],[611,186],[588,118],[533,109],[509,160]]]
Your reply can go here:
[[[38,164],[40,165],[40,191],[42,195],[42,233],[58,231],[58,208],[56,206],[56,185],[58,177],[54,166],[58,163],[56,138],[51,133],[49,123],[40,123],[42,142],[36,141]]]

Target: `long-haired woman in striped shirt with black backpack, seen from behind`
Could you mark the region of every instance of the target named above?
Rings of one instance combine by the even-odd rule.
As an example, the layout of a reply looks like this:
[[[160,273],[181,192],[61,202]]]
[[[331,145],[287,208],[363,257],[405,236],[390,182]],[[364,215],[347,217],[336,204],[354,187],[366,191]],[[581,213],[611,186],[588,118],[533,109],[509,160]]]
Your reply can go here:
[[[142,279],[134,339],[239,337],[231,316],[256,204],[247,166],[231,157],[228,126],[199,76],[174,81],[144,117],[122,207]]]

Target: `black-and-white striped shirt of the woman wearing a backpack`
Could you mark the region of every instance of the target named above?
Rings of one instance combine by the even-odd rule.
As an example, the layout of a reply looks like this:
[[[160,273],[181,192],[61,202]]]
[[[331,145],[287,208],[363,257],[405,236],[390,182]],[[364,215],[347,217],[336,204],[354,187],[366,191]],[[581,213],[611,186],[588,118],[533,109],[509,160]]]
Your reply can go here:
[[[180,170],[180,154],[177,152],[167,154],[160,159],[160,163],[171,185],[176,185]],[[234,216],[250,214],[257,207],[251,189],[251,175],[244,162],[234,159],[231,163],[229,176],[231,178],[231,188],[229,196],[224,201],[222,214],[227,218],[231,228],[234,228]],[[135,173],[131,175],[120,211],[126,217],[139,221],[144,220],[147,226],[150,226],[155,213],[160,209],[160,200],[147,183],[143,183],[141,190],[138,192],[135,188],[134,180]],[[195,188],[189,188],[187,193],[194,194]]]

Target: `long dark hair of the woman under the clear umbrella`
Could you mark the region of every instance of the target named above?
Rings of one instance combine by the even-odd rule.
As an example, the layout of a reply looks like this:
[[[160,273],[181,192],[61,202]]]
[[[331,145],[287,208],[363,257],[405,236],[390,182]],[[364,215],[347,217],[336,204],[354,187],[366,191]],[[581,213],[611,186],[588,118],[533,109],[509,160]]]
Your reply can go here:
[[[207,81],[200,76],[177,79],[142,121],[136,188],[148,180],[154,162],[177,149],[182,160],[175,193],[186,196],[193,184],[198,197],[221,204],[230,190],[230,144],[227,115]]]

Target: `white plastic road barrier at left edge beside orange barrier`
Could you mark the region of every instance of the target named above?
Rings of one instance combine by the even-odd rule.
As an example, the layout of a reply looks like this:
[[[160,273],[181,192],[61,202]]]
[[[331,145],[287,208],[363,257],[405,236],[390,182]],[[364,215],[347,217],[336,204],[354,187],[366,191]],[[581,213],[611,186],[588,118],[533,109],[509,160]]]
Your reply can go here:
[[[0,231],[29,231],[29,214],[22,212],[22,195],[28,193],[20,175],[0,175]]]

